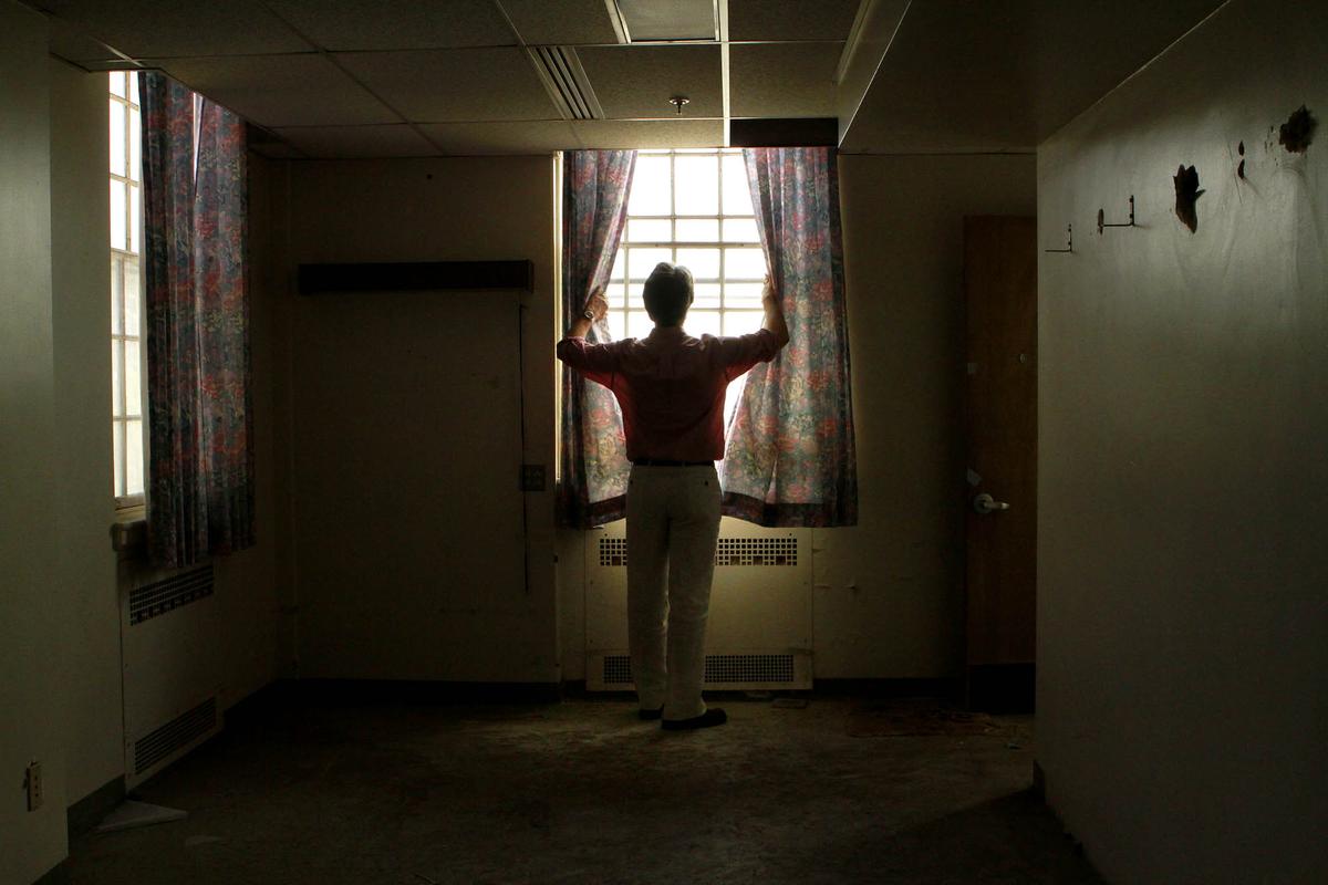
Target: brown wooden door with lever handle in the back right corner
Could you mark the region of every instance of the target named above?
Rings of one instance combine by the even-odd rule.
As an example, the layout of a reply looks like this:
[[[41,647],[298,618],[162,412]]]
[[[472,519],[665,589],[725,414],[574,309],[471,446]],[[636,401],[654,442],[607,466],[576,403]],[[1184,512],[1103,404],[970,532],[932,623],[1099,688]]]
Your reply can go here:
[[[967,695],[1032,710],[1037,614],[1037,245],[1032,218],[964,219]]]

